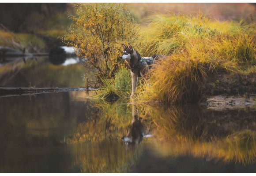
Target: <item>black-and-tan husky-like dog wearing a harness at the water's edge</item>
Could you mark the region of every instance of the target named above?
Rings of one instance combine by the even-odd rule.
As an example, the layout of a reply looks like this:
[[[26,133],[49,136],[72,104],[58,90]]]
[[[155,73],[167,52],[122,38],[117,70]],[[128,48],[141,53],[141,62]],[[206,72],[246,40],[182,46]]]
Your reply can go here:
[[[149,69],[150,65],[154,64],[155,60],[162,58],[162,55],[152,55],[151,57],[141,57],[138,51],[136,51],[130,44],[126,47],[122,44],[124,49],[123,54],[120,56],[120,59],[124,59],[130,68],[130,72],[132,75],[132,95],[133,98],[137,83],[138,77],[142,77],[146,84],[149,85]]]

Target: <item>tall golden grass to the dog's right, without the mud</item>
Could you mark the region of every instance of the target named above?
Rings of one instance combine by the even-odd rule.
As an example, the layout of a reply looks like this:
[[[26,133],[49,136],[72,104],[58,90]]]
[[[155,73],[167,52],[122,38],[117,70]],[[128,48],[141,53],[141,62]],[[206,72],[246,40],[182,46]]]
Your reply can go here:
[[[209,76],[246,70],[256,63],[255,24],[196,16],[157,14],[146,27],[145,55],[168,55],[151,69],[151,87],[138,100],[196,102]],[[144,91],[150,93],[143,93]]]

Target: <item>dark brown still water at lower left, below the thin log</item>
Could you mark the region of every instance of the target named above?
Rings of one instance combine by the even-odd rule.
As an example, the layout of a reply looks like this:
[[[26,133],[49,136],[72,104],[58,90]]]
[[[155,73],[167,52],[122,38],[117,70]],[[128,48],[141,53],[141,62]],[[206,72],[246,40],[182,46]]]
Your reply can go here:
[[[60,139],[89,103],[72,102],[69,92],[0,98],[0,172],[68,172]]]

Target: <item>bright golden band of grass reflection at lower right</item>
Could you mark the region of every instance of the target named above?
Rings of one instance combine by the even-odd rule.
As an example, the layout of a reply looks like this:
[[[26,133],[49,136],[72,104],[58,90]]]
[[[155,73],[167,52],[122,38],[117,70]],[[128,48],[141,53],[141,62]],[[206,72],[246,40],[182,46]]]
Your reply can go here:
[[[164,144],[155,144],[161,147],[158,152],[164,156],[192,155],[224,162],[235,161],[243,165],[256,161],[256,133],[250,130],[236,132],[223,139],[213,139],[208,142],[171,140]]]

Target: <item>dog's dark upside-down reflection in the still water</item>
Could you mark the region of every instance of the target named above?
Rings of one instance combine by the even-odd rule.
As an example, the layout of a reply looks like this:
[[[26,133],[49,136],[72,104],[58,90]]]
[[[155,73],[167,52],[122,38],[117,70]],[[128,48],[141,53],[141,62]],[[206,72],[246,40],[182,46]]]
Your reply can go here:
[[[122,138],[122,141],[125,142],[125,146],[129,144],[139,144],[143,137],[150,137],[148,134],[149,127],[144,123],[143,119],[138,116],[138,110],[136,105],[132,105],[132,122],[131,130],[126,136]]]

